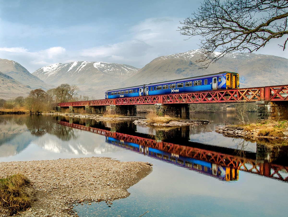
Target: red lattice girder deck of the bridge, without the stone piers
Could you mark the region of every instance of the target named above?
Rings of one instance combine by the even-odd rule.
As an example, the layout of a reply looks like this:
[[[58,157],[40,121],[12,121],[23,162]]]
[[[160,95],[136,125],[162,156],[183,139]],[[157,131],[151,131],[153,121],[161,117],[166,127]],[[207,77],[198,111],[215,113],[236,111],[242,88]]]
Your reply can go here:
[[[256,101],[288,101],[288,85],[253,87],[231,90],[212,90],[193,93],[174,93],[117,99],[99,99],[90,101],[57,103],[56,106],[95,106],[95,105],[151,105],[178,103],[228,103]]]

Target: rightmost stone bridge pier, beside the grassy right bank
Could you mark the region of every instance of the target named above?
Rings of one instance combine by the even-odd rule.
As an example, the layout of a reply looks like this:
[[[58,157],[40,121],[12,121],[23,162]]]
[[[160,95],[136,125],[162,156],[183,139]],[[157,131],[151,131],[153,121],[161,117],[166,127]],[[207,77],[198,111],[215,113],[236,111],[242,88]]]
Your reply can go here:
[[[257,101],[257,122],[287,120],[288,101]]]

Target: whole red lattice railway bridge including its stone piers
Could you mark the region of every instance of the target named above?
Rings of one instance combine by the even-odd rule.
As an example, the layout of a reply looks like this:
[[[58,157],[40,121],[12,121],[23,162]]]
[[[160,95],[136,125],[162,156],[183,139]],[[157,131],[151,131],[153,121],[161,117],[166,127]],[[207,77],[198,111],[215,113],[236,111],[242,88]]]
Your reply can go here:
[[[103,114],[106,106],[110,106],[115,114],[135,116],[136,105],[156,105],[156,111],[162,115],[189,118],[189,104],[192,103],[239,102],[256,102],[258,121],[288,119],[288,85],[65,102],[55,107],[58,112],[69,108],[69,112],[74,113],[75,109],[82,108],[88,114]]]

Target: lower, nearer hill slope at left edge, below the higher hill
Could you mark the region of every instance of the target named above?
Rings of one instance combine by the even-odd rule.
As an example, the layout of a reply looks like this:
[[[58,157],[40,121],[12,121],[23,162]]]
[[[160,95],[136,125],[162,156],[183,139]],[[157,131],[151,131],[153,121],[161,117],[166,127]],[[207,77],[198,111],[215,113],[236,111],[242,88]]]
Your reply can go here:
[[[32,91],[32,89],[28,85],[23,85],[10,76],[0,72],[0,98],[26,97],[30,91]]]

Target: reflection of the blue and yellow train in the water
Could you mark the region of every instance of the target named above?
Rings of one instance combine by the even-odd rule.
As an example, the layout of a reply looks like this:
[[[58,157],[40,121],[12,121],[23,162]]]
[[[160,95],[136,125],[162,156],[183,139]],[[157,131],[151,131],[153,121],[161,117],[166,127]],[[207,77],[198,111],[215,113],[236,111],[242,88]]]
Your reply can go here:
[[[163,161],[188,168],[190,170],[196,170],[198,172],[211,175],[219,178],[220,180],[232,181],[232,180],[238,180],[239,178],[239,171],[235,168],[230,168],[217,164],[211,164],[209,162],[196,160],[194,158],[182,157],[177,154],[168,153],[147,146],[138,145],[136,143],[125,142],[123,140],[114,139],[112,137],[106,137],[106,142],[113,145],[118,145],[131,151],[136,151],[144,155],[151,156],[153,158],[158,158]]]

